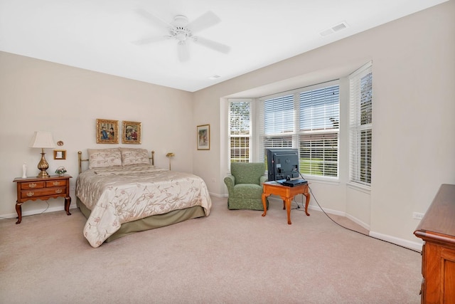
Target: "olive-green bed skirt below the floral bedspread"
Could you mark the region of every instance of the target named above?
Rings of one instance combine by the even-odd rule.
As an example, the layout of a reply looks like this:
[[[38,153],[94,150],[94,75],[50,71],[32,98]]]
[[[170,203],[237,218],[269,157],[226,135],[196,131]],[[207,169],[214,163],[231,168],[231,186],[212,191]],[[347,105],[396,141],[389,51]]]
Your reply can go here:
[[[82,204],[82,201],[80,201],[78,197],[76,198],[76,206],[80,209],[82,214],[84,214],[85,218],[88,219],[91,211],[87,208],[87,206],[85,206],[85,204]],[[137,221],[130,221],[122,224],[120,229],[112,234],[112,236],[109,236],[105,242],[114,241],[114,239],[119,239],[122,236],[134,234],[135,232],[169,226],[180,223],[181,221],[186,221],[187,219],[196,219],[202,216],[205,216],[202,206],[192,206],[187,209],[173,210],[166,214],[148,216],[144,219],[138,219]]]

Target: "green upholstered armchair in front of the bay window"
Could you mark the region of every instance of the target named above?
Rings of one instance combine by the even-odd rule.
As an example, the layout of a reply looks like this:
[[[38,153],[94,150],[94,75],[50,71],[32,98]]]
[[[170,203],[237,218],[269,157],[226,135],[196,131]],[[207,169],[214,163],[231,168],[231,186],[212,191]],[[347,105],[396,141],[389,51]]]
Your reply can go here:
[[[262,183],[267,182],[262,162],[232,162],[231,175],[225,177],[228,187],[228,209],[264,210]],[[269,202],[267,201],[267,207]]]

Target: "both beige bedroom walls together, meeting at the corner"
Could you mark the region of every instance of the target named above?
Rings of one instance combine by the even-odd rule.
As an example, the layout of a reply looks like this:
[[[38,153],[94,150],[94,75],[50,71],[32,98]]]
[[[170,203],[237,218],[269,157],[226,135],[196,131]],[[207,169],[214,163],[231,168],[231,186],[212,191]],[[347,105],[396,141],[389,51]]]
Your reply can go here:
[[[454,16],[451,0],[196,93],[0,53],[0,214],[14,215],[12,180],[21,176],[23,162],[28,175],[36,174],[39,151],[28,148],[33,131],[51,131],[65,142],[67,160],[46,154],[50,171],[63,164],[76,177],[77,150],[109,147],[95,143],[96,118],[142,122],[141,147],[156,150],[157,164],[167,166],[164,154],[175,152],[173,169],[200,175],[211,194],[224,196],[226,97],[343,77],[372,60],[372,190],[348,187],[346,125],[340,182],[312,181],[311,187],[324,208],[368,226],[373,236],[419,245],[412,211],[426,211],[440,184],[455,184]],[[210,151],[198,151],[196,125],[205,124],[210,124]],[[63,209],[59,200],[50,200],[51,207]],[[28,202],[23,210],[36,213],[45,206]]]

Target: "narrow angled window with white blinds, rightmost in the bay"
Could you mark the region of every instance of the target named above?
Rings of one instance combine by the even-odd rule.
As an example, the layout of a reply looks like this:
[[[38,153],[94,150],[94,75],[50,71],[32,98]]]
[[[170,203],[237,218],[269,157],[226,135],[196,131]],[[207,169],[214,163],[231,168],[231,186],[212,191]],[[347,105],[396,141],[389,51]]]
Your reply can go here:
[[[373,145],[373,72],[372,63],[349,76],[350,84],[350,181],[371,185]]]

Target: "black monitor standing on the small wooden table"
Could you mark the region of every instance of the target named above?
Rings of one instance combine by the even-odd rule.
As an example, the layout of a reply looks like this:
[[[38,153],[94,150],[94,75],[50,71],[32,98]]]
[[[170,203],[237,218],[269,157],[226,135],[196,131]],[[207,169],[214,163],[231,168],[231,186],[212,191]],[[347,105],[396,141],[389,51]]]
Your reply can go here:
[[[269,181],[299,177],[299,151],[290,148],[267,149]]]

